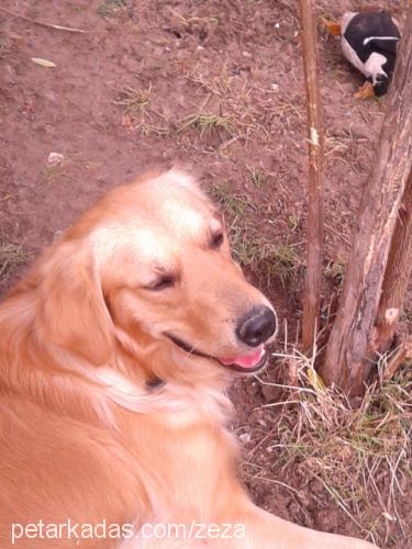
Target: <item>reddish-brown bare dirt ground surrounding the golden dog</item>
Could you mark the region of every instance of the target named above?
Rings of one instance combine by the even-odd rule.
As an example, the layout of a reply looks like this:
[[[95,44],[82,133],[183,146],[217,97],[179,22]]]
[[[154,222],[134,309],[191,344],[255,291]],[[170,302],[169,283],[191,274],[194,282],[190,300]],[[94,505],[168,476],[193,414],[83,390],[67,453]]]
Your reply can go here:
[[[320,0],[318,14],[337,18],[372,5],[390,8],[401,21],[405,4]],[[321,23],[320,55],[326,314],[339,291],[385,99],[353,98],[363,79]],[[296,1],[2,0],[0,71],[2,293],[104,191],[147,169],[179,166],[194,171],[221,202],[236,258],[271,296],[294,340],[308,160]],[[51,165],[49,153],[64,155],[63,161]],[[405,317],[411,315],[408,303]],[[278,379],[279,369],[274,361],[265,379]],[[401,384],[410,399],[410,377]],[[377,490],[338,495],[321,457],[308,461],[299,444],[293,455],[285,450],[283,435],[298,415],[261,407],[280,397],[276,390],[257,380],[238,380],[233,389],[242,471],[257,503],[314,528],[412,547],[405,445],[397,447],[396,474],[369,471],[368,484],[374,478]],[[316,472],[320,463],[325,475]],[[400,463],[407,466],[398,475]]]

